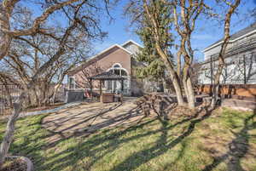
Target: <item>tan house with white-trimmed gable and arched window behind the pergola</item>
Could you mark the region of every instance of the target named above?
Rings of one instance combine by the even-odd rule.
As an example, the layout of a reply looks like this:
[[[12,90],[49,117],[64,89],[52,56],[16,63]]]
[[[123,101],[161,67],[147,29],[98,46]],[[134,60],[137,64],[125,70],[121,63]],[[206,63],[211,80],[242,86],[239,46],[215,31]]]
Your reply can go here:
[[[130,40],[126,43],[113,46],[96,54],[84,64],[76,67],[68,73],[69,89],[90,89],[89,77],[100,74],[104,71],[112,71],[122,77],[125,77],[124,94],[139,95],[142,94],[143,83],[135,77],[134,68],[139,65],[135,60],[135,54],[141,46]],[[99,82],[93,81],[93,91],[99,89]],[[115,92],[120,90],[119,81],[105,81],[103,91]]]

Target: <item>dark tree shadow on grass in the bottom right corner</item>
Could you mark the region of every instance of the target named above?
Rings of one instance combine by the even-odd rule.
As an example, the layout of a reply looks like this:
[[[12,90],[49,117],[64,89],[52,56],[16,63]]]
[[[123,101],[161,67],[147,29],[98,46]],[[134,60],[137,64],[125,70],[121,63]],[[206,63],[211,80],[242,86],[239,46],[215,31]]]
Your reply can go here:
[[[241,128],[241,131],[239,133],[233,133],[236,138],[230,142],[229,151],[222,156],[214,157],[213,162],[207,165],[202,171],[211,171],[225,160],[227,160],[228,171],[245,171],[241,167],[240,161],[248,151],[248,140],[250,136],[248,131],[256,128],[256,122],[253,122],[254,117],[256,117],[256,110],[254,110],[253,115],[244,120],[244,127]]]

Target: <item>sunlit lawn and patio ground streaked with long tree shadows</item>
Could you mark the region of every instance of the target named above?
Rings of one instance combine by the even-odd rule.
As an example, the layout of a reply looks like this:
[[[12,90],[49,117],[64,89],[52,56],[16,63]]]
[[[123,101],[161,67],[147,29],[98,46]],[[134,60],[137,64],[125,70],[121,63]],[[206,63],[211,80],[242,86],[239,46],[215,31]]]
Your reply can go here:
[[[29,157],[37,171],[256,170],[255,112],[201,108],[165,121],[133,104],[20,118],[10,153]]]

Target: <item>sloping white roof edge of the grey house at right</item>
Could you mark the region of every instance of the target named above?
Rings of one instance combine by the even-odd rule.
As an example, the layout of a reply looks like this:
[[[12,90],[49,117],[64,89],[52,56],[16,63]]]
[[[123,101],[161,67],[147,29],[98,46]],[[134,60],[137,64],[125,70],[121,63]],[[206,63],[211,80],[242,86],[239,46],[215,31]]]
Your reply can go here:
[[[240,37],[243,37],[243,36],[246,36],[247,34],[251,34],[253,32],[256,32],[256,22],[253,23],[252,25],[250,26],[247,26],[246,28],[244,29],[241,29],[240,31],[237,31],[236,33],[232,34],[230,36],[230,42],[234,42],[236,41],[236,39],[240,38]],[[223,42],[223,38],[218,40],[217,42],[215,43],[212,43],[210,46],[208,46],[207,48],[205,48],[203,50],[203,52],[207,51],[208,49],[210,48],[213,48],[214,46],[217,46],[218,44],[221,44]]]

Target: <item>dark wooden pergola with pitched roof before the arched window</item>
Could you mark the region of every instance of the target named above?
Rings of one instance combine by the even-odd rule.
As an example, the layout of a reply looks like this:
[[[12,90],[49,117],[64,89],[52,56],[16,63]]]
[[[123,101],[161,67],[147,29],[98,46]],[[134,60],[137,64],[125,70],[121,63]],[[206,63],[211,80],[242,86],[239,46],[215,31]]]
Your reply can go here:
[[[90,97],[92,97],[92,81],[93,80],[98,80],[100,81],[100,95],[102,96],[102,82],[103,81],[112,81],[112,80],[119,80],[121,81],[121,91],[124,91],[124,80],[125,77],[119,76],[117,74],[114,74],[112,71],[105,71],[102,72],[96,76],[89,77],[90,79]]]

